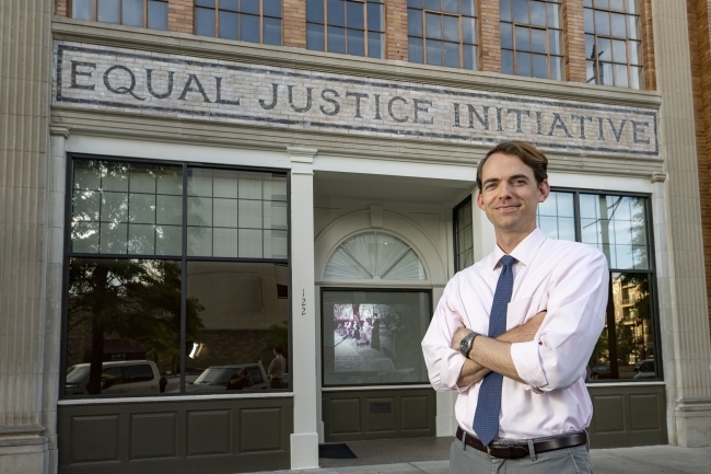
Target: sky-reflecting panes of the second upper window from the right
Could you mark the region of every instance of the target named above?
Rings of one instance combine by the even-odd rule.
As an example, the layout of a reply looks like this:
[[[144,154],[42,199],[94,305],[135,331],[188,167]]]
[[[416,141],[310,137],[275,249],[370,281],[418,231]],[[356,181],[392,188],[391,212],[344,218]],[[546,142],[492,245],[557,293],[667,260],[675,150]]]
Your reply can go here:
[[[501,0],[501,71],[563,79],[560,0]]]

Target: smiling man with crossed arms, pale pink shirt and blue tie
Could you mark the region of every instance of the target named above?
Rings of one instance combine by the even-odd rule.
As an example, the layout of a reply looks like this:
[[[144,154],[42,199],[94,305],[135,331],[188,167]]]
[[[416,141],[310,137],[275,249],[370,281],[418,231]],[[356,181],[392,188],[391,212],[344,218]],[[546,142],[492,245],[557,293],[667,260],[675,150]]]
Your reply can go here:
[[[496,250],[447,284],[422,340],[430,381],[458,393],[450,472],[592,473],[585,369],[604,327],[607,262],[547,239],[548,160],[503,142],[477,169]]]

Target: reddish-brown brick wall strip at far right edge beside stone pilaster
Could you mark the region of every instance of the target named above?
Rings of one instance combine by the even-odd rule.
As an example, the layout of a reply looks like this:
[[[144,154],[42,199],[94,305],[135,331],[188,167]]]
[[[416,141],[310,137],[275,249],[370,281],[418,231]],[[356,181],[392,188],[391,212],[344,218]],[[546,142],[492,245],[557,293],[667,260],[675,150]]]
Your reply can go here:
[[[691,84],[693,88],[693,118],[696,123],[697,163],[699,167],[699,204],[701,207],[709,323],[711,323],[711,172],[708,155],[711,149],[710,7],[711,2],[709,0],[687,0],[689,49],[691,54]]]

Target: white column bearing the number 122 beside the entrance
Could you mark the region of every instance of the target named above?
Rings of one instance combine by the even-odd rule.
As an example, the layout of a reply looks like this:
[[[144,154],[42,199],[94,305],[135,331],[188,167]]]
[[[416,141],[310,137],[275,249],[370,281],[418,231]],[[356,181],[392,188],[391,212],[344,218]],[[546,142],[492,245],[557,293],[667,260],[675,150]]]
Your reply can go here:
[[[316,304],[314,285],[315,149],[289,147],[291,157],[291,290],[294,432],[291,469],[318,467],[316,429]]]

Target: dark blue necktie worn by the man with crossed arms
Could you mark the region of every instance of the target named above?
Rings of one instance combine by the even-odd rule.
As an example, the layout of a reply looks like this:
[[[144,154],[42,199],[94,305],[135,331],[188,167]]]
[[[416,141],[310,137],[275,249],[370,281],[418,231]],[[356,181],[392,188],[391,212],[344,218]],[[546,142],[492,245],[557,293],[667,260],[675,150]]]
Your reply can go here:
[[[489,337],[498,337],[506,331],[506,309],[513,292],[513,271],[511,267],[516,259],[511,255],[501,257],[501,275],[493,293],[491,314],[489,316]],[[501,414],[501,386],[503,375],[491,372],[485,377],[479,388],[477,411],[474,414],[474,431],[483,446],[488,446],[499,433],[499,415]]]

